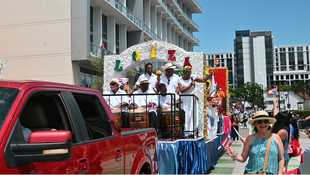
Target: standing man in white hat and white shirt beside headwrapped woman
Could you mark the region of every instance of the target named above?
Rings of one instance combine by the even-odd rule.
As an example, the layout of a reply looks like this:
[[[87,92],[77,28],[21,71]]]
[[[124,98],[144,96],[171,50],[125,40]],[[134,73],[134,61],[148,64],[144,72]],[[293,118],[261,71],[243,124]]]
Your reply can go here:
[[[160,83],[166,84],[167,90],[173,91],[177,94],[179,94],[179,86],[178,86],[178,79],[179,76],[174,74],[174,68],[176,66],[173,66],[172,63],[165,64],[164,70],[166,70],[165,74],[162,74],[161,76],[157,77],[157,84],[156,88],[158,90],[158,86]],[[158,83],[160,82],[160,83]]]

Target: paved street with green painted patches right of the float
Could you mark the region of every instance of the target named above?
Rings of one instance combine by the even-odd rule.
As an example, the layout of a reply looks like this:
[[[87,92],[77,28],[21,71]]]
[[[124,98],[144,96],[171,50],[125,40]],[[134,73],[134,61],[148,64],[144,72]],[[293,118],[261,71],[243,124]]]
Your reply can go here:
[[[243,126],[240,127],[239,133],[246,139],[249,134],[252,133],[251,125],[247,124],[248,129],[243,129]],[[299,143],[303,147],[303,150],[308,147],[310,144],[310,140],[305,133],[299,132],[300,138]],[[236,139],[237,140],[237,139]],[[232,149],[237,155],[242,153],[243,143],[239,138],[238,143],[232,143]],[[229,157],[225,151],[219,153],[219,160],[215,167],[211,167],[206,174],[243,174],[244,167],[246,166],[247,161],[244,163],[240,163],[237,161],[232,161],[231,157]],[[300,164],[300,156],[292,157],[288,164],[288,171],[298,168]]]

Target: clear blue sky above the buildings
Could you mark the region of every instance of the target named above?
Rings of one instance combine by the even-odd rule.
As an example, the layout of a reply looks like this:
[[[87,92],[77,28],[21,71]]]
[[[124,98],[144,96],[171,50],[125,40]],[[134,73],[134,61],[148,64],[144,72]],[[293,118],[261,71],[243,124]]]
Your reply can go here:
[[[197,0],[203,13],[193,14],[200,41],[193,51],[233,52],[235,30],[271,30],[274,45],[310,44],[310,0]]]

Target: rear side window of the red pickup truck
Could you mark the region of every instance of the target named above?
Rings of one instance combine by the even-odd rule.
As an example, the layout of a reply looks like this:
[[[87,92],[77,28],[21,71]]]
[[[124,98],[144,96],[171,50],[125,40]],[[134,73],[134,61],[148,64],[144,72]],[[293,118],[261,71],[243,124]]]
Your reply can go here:
[[[72,93],[82,113],[89,140],[101,139],[112,135],[109,118],[105,116],[99,99],[95,95]]]

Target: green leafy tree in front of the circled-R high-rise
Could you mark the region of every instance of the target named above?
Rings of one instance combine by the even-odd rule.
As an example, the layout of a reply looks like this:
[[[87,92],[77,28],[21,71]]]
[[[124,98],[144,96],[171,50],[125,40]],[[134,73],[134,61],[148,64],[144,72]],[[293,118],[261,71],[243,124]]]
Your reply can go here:
[[[264,106],[263,100],[258,100],[263,98],[262,87],[259,86],[258,83],[246,82],[241,88],[236,88],[234,90],[234,94],[236,94],[236,96],[242,96],[242,93],[245,96],[245,102],[247,102],[254,110],[257,108],[267,108],[268,102],[265,101],[265,98]]]

